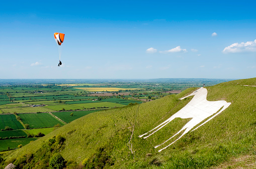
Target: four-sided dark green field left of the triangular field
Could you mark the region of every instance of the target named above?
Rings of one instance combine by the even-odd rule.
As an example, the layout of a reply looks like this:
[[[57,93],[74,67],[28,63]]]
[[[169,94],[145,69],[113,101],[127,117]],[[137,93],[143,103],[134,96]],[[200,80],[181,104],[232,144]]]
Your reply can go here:
[[[19,114],[24,124],[29,124],[30,128],[53,127],[56,124],[63,123],[54,118],[49,113],[24,113]]]

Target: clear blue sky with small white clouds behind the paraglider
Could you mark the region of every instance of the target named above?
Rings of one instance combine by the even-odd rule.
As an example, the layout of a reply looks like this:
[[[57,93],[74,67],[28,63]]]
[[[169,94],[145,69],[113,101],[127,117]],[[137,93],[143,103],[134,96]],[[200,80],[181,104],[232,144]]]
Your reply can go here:
[[[255,8],[254,0],[1,2],[0,78],[255,77]],[[60,67],[54,32],[65,33]]]

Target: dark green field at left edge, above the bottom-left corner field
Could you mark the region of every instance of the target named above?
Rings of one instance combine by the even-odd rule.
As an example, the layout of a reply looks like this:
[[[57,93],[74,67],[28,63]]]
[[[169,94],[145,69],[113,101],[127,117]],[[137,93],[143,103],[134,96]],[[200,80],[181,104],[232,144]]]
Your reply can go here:
[[[0,114],[0,129],[5,129],[6,126],[10,126],[13,129],[24,129],[14,114]]]

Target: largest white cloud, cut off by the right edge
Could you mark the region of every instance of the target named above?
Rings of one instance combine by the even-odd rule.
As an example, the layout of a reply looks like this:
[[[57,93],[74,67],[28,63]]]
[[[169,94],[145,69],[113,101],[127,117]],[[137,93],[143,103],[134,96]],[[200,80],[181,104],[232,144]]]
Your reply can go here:
[[[241,43],[233,43],[224,48],[224,53],[256,52],[256,39]]]

